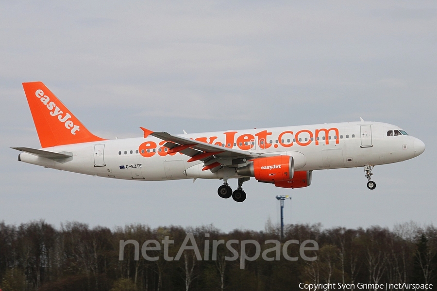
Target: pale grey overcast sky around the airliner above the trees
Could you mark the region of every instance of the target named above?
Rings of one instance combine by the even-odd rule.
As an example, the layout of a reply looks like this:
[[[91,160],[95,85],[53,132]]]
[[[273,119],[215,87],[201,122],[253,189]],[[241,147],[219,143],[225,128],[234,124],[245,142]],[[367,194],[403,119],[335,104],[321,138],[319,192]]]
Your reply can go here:
[[[437,223],[436,1],[0,1],[0,221],[59,226]],[[93,133],[140,137],[381,121],[426,144],[419,157],[313,172],[312,185],[140,182],[17,162],[40,147],[22,82],[43,81]],[[230,180],[236,188],[236,180]]]

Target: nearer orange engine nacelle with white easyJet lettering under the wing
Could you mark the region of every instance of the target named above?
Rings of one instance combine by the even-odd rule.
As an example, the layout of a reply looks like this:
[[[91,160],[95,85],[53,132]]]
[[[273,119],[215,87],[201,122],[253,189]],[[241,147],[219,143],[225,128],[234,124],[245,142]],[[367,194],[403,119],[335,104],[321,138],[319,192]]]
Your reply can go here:
[[[236,171],[238,175],[255,177],[259,181],[287,181],[293,178],[294,160],[291,156],[259,158]]]

